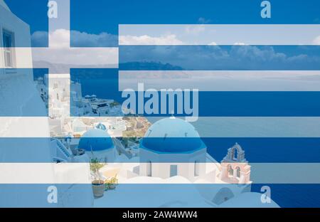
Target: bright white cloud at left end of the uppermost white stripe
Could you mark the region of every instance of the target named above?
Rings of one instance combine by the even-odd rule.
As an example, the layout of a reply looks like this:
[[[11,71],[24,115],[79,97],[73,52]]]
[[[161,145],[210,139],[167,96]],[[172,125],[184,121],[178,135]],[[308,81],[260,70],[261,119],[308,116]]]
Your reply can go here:
[[[122,45],[168,45],[174,44],[179,45],[183,44],[182,41],[176,38],[176,35],[166,35],[160,37],[151,37],[151,36],[119,36],[119,43]]]

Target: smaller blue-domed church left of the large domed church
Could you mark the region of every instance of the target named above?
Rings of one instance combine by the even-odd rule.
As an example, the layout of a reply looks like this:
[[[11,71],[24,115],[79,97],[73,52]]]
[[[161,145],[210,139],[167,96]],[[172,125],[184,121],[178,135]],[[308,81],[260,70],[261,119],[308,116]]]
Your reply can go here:
[[[97,158],[100,162],[114,162],[114,142],[107,131],[90,129],[80,138],[78,148],[85,149],[90,158]]]

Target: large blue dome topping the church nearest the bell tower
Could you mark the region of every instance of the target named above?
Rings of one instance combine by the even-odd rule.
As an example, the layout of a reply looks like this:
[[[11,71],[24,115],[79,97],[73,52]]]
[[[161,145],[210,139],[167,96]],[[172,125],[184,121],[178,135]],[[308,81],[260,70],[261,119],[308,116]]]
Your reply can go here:
[[[171,117],[151,125],[140,147],[161,153],[190,153],[206,148],[206,145],[193,125]]]

